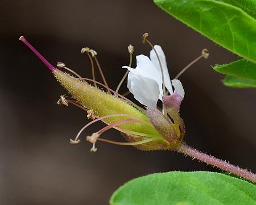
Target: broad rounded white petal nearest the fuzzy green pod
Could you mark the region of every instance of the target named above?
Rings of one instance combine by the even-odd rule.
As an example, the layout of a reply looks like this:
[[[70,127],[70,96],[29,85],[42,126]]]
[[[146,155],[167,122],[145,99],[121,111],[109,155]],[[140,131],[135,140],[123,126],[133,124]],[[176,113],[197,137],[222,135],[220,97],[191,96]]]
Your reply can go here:
[[[156,108],[159,98],[159,85],[155,80],[129,72],[127,87],[141,104]]]

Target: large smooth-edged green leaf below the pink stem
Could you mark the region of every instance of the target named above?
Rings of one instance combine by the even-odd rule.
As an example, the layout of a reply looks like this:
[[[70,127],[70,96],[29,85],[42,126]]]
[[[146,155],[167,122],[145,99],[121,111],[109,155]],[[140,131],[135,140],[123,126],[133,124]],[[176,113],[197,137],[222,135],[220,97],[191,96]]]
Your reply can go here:
[[[207,171],[151,174],[121,186],[111,205],[256,204],[256,186]]]

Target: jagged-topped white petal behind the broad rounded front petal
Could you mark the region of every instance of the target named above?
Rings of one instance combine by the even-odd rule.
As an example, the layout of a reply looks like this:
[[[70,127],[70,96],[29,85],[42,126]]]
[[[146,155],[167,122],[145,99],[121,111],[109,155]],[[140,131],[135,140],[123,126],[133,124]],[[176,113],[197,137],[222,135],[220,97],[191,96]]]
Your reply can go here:
[[[129,66],[122,66],[122,68],[126,68],[135,75],[142,76],[143,78],[148,78],[154,80],[158,83],[159,86],[159,99],[162,100],[163,89],[162,89],[162,76],[159,73],[159,70],[155,68],[155,66],[150,61],[150,58],[144,55],[136,56],[137,67],[130,68]],[[144,87],[149,87],[150,85],[144,85]],[[143,89],[143,87],[141,87]]]

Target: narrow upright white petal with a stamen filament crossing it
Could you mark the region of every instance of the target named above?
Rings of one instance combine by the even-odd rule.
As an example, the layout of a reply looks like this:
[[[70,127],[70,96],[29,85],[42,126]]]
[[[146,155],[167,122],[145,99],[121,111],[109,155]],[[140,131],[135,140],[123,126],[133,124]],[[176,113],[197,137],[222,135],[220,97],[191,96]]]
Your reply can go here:
[[[167,64],[166,64],[166,56],[164,55],[163,49],[160,47],[160,45],[155,45],[154,48],[155,48],[156,52],[158,53],[158,56],[160,58],[160,61],[161,61],[162,67],[163,67],[164,85],[166,86],[167,90],[169,90],[170,94],[172,94],[173,91],[172,91],[170,75],[169,75]],[[160,73],[160,77],[161,77],[161,81],[162,81],[162,74],[161,74],[158,57],[156,57],[155,51],[153,49],[150,51],[150,59],[151,59],[152,64],[154,64],[155,68],[158,69],[158,72]]]

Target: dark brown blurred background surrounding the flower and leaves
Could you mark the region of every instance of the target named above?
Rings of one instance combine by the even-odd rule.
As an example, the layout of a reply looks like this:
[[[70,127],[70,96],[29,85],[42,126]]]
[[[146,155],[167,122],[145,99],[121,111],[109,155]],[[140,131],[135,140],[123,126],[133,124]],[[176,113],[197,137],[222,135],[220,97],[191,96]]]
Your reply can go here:
[[[256,171],[255,90],[224,87],[223,76],[210,67],[238,57],[152,1],[2,0],[0,17],[0,204],[108,204],[114,190],[142,175],[220,171],[173,152],[142,152],[98,142],[97,153],[91,154],[84,139],[70,145],[69,138],[89,120],[72,105],[57,105],[66,92],[19,41],[20,35],[53,65],[63,61],[88,78],[90,63],[80,50],[95,49],[113,89],[125,73],[121,66],[129,64],[127,45],[134,45],[135,55],[149,54],[150,48],[141,42],[144,32],[149,32],[152,43],[162,45],[172,77],[208,48],[208,60],[200,60],[180,77],[185,89],[185,141]],[[98,72],[96,76],[101,81]],[[127,91],[125,84],[120,93]],[[82,136],[102,126],[92,125]],[[123,140],[114,129],[102,137]]]

